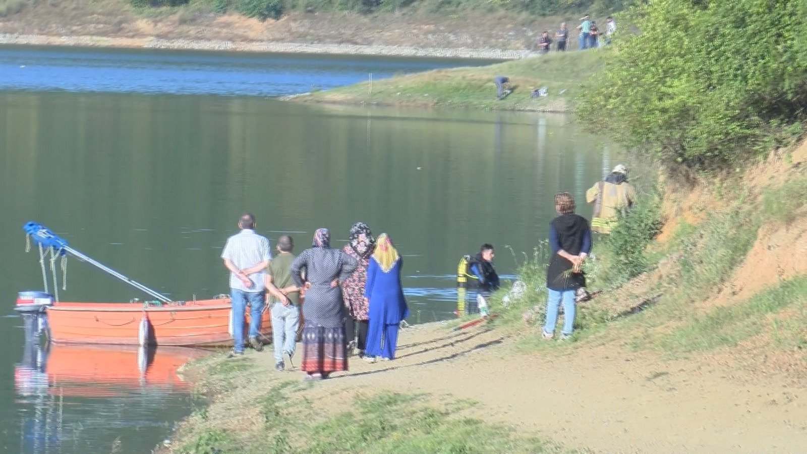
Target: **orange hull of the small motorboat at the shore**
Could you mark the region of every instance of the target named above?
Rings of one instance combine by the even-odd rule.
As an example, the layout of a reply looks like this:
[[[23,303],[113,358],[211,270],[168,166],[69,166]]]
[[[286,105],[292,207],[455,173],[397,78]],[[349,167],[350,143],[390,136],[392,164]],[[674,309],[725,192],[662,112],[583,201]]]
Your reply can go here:
[[[187,346],[232,343],[230,309],[229,298],[159,306],[59,302],[47,314],[55,343]],[[244,317],[249,320],[249,313]],[[265,310],[261,335],[270,334],[270,311]]]

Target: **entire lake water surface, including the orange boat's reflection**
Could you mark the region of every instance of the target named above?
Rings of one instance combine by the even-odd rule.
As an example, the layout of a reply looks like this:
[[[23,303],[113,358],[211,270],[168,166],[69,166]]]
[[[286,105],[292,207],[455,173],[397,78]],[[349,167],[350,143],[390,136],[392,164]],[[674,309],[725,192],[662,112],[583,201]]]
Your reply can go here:
[[[176,367],[203,354],[23,343],[16,292],[42,288],[26,221],[182,300],[228,292],[219,255],[245,210],[259,233],[291,233],[298,250],[318,227],[340,247],[356,221],[389,233],[410,322],[453,317],[458,259],[483,242],[512,275],[546,238],[554,193],[580,200],[614,164],[572,117],[266,97],[450,65],[0,48],[0,446],[149,452],[194,403]],[[73,259],[67,281],[65,301],[144,297]]]

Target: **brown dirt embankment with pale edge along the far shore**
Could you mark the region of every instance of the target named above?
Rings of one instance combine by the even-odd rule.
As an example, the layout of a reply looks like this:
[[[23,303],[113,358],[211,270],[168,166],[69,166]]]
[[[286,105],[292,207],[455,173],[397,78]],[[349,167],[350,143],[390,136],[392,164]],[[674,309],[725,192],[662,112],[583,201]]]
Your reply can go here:
[[[38,2],[0,17],[0,44],[199,48],[509,59],[564,19],[521,15],[291,12],[260,21],[203,6],[139,14],[123,0]]]

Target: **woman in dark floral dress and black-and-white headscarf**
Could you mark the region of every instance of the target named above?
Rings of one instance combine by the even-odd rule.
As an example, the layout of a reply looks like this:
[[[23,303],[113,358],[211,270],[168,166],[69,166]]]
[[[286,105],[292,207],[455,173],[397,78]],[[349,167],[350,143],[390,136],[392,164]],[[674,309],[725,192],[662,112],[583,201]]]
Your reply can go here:
[[[350,228],[348,244],[342,249],[345,254],[353,257],[358,266],[356,271],[342,283],[342,298],[345,308],[348,309],[348,318],[345,331],[348,341],[353,341],[353,333],[358,326],[356,348],[358,355],[364,355],[364,346],[367,339],[367,299],[364,297],[364,284],[367,281],[367,265],[370,264],[370,255],[373,254],[375,241],[370,227],[364,222],[357,222]]]

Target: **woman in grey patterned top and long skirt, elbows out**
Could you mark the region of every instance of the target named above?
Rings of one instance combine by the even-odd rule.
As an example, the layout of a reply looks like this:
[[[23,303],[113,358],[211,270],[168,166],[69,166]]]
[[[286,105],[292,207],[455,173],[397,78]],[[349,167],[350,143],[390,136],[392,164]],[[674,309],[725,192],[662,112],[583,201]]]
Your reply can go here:
[[[305,267],[306,282],[300,279]],[[298,287],[308,289],[303,305],[303,361],[306,380],[328,378],[331,372],[348,370],[345,342],[345,308],[339,282],[356,269],[356,260],[341,250],[331,249],[328,229],[316,229],[312,247],[291,263],[291,277]]]

